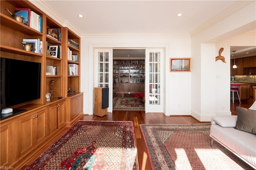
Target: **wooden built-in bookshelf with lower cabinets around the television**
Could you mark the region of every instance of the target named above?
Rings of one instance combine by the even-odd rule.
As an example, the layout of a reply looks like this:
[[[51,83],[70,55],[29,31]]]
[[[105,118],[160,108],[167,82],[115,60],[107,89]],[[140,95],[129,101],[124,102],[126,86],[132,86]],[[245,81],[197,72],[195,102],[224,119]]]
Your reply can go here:
[[[30,8],[42,17],[42,32],[14,20],[6,10]],[[40,99],[11,106],[27,111],[0,121],[0,166],[22,167],[33,153],[42,149],[65,127],[70,127],[83,116],[83,92],[80,91],[80,37],[63,27],[27,0],[0,1],[1,57],[41,63]],[[61,41],[48,36],[48,28],[61,30]],[[22,49],[23,39],[40,39],[42,54]],[[79,47],[68,45],[73,40]],[[61,46],[60,58],[48,55],[49,45]],[[77,61],[68,60],[68,48]],[[79,66],[77,75],[68,75],[68,64]],[[46,75],[46,66],[57,66],[57,75]],[[28,74],[29,76],[29,74]],[[46,102],[50,83],[54,81],[54,98]],[[22,83],[22,82],[21,82]],[[68,89],[72,93],[68,94]],[[75,93],[74,93],[75,92]]]

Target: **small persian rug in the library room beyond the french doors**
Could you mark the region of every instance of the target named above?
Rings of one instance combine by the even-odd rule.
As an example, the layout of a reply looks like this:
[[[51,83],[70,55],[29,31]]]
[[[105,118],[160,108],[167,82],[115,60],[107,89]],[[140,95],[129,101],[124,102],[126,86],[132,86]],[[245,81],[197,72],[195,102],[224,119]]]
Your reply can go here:
[[[113,110],[117,111],[144,111],[144,102],[134,97],[115,97],[113,99]]]

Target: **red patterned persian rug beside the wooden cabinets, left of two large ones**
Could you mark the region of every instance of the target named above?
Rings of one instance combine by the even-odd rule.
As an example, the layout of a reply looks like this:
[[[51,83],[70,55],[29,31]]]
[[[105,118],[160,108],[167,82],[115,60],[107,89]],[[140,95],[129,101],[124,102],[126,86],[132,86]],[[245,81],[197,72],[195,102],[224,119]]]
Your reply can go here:
[[[138,170],[131,121],[78,121],[26,170]]]

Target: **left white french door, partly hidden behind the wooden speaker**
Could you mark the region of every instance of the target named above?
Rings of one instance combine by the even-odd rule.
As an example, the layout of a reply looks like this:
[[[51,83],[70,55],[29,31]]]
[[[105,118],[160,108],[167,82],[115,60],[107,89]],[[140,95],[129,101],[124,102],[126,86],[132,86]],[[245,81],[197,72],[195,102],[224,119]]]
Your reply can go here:
[[[95,49],[95,82],[94,87],[108,87],[108,112],[112,112],[112,87],[113,87],[113,56],[112,49]]]

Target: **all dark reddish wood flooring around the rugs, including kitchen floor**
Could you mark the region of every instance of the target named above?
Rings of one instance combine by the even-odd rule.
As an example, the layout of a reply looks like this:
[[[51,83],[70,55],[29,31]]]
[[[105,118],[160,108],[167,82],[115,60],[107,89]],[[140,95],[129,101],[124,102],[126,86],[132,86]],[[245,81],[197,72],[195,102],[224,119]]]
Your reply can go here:
[[[242,101],[239,103],[235,101],[233,104],[230,103],[230,111],[232,115],[237,115],[236,107],[249,108],[253,103],[253,99],[249,101]],[[108,113],[106,116],[98,117],[94,115],[85,115],[83,120],[87,121],[133,121],[136,132],[136,144],[138,149],[138,161],[140,170],[150,170],[151,165],[148,158],[148,152],[146,150],[145,142],[140,130],[140,124],[194,124],[200,123],[198,120],[191,116],[165,116],[162,113],[145,113],[144,111],[113,111],[113,113]],[[64,134],[68,128],[62,130],[62,132],[54,138],[45,148],[34,155],[34,157],[27,162],[22,168],[26,168],[33,160],[35,160],[44,150],[46,150],[54,141],[56,141],[62,134]]]

